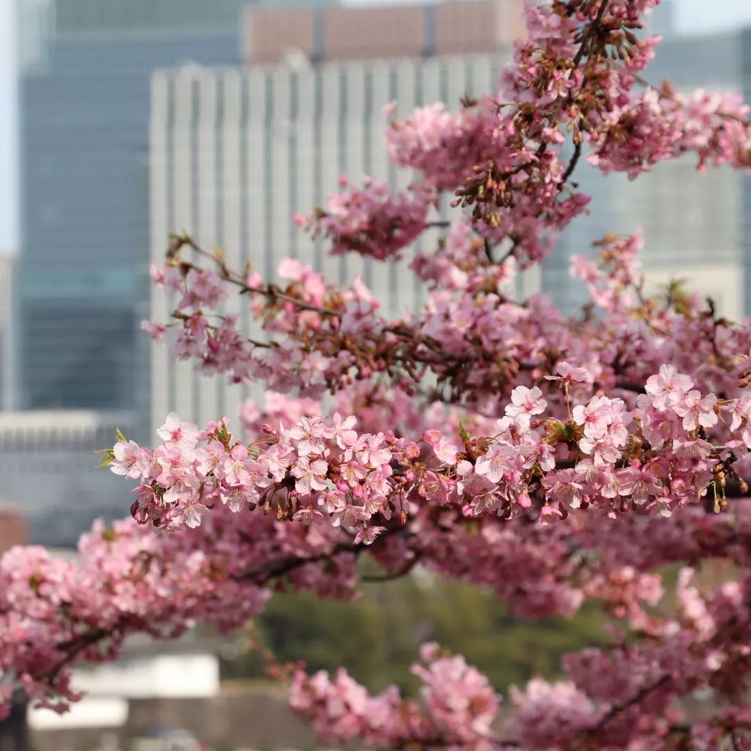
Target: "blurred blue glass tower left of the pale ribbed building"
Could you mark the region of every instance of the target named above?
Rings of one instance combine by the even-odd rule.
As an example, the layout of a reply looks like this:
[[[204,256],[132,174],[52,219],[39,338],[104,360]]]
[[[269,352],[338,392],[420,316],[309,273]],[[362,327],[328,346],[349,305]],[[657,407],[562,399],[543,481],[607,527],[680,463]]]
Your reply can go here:
[[[20,5],[15,406],[143,412],[149,75],[186,61],[240,62],[249,0]]]

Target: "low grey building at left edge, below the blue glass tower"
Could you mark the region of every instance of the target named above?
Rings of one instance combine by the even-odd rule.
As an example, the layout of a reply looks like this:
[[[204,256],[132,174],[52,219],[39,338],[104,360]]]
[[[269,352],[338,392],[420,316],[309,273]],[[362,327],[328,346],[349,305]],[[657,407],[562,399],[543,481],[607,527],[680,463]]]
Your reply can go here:
[[[100,468],[115,426],[134,433],[129,412],[0,413],[0,505],[23,516],[29,542],[73,546],[96,517],[128,515],[131,485]]]

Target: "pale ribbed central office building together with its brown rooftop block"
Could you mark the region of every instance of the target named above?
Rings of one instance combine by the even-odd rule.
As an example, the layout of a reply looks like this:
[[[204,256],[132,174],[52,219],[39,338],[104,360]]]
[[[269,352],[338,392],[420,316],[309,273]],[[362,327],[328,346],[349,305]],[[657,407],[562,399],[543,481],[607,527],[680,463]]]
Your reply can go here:
[[[385,105],[397,100],[400,111],[409,113],[421,104],[456,104],[466,92],[490,91],[508,44],[519,33],[519,15],[516,0],[333,8],[318,14],[246,12],[248,55],[252,59],[262,42],[261,59],[280,64],[243,70],[183,67],[152,78],[152,261],[161,263],[164,237],[179,228],[206,247],[225,249],[232,267],[250,262],[261,274],[274,276],[282,258],[302,258],[334,281],[360,274],[391,315],[414,310],[422,290],[406,262],[330,258],[325,243],[313,243],[291,218],[324,204],[342,174],[353,181],[371,175],[393,189],[404,187],[409,173],[396,170],[386,155]],[[322,20],[321,43],[303,35],[310,32],[311,18]],[[406,35],[394,41],[387,33],[407,19],[424,29],[428,18],[437,30],[432,49],[444,54],[421,56],[424,38]],[[505,18],[508,27],[500,23]],[[280,31],[285,28],[297,29],[300,55],[289,54],[289,39]],[[379,33],[367,33],[372,29]],[[346,46],[355,34],[357,44]],[[468,40],[475,37],[481,52],[469,53]],[[387,38],[388,50],[400,56],[380,56]],[[312,47],[320,62],[309,58]],[[433,246],[438,237],[427,235],[424,246]],[[168,301],[156,289],[152,312],[156,320],[169,313]],[[247,329],[246,314],[243,309]],[[152,429],[170,411],[199,422],[237,415],[248,396],[223,379],[200,375],[191,362],[176,362],[164,345],[152,348]]]

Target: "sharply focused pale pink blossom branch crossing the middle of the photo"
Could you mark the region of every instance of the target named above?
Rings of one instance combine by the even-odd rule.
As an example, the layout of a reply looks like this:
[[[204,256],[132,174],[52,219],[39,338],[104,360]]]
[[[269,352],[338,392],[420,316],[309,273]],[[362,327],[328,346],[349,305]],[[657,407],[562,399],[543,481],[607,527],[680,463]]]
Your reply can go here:
[[[549,377],[568,391],[586,382],[585,369],[560,363]],[[696,504],[722,496],[722,481],[751,448],[743,395],[718,403],[693,388],[689,375],[661,366],[629,410],[601,394],[571,407],[562,421],[546,417],[538,387],[517,386],[493,436],[450,436],[425,430],[416,440],[392,430],[358,433],[357,418],[301,416],[291,427],[265,424],[263,436],[234,440],[229,421],[204,430],[169,415],[153,451],[119,440],[113,472],[140,482],[132,514],[140,523],[195,527],[216,505],[231,511],[273,508],[279,520],[351,530],[372,542],[392,518],[415,505],[454,505],[465,516],[508,518],[533,508],[540,520],[594,506],[616,514],[629,508]],[[714,430],[722,417],[722,433]],[[707,432],[709,431],[709,432]],[[710,432],[722,445],[710,442]],[[568,464],[569,466],[565,466]]]

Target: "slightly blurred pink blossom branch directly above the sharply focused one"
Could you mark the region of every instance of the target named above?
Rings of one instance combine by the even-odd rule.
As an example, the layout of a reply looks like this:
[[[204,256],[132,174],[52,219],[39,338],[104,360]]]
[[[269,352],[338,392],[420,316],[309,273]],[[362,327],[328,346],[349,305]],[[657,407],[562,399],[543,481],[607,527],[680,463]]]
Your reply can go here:
[[[336,288],[300,261],[282,261],[279,276],[288,283],[277,287],[248,285],[226,269],[199,273],[173,255],[153,274],[178,298],[176,323],[149,328],[157,338],[171,338],[176,329],[176,356],[196,360],[204,372],[314,398],[373,377],[413,391],[428,374],[443,400],[497,414],[520,372],[539,379],[561,360],[587,366],[590,394],[617,389],[625,398],[665,362],[700,382],[710,378],[711,391],[737,394],[737,357],[751,349],[751,330],[719,318],[696,296],[648,297],[636,259],[641,244],[638,235],[605,237],[599,263],[573,261],[572,273],[608,314],[607,327],[595,316],[569,321],[541,295],[514,302],[509,262],[491,263],[482,239],[460,221],[439,252],[413,262],[434,289],[411,319],[389,321],[359,279]],[[196,279],[201,287],[193,291]],[[249,291],[266,341],[243,335],[237,316],[211,309],[231,285]]]

